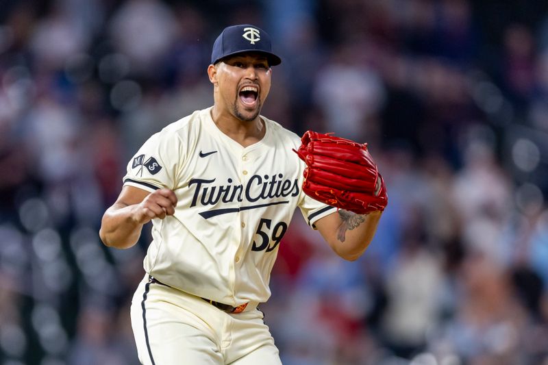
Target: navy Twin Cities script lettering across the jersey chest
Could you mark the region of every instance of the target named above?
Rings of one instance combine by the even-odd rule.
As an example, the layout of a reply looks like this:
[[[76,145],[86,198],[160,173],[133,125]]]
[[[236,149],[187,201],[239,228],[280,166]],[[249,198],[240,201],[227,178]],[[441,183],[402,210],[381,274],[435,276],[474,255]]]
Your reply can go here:
[[[228,179],[226,185],[215,185],[216,179],[191,179],[188,181],[188,188],[195,186],[194,196],[190,207],[198,203],[206,205],[215,205],[219,201],[223,203],[232,203],[233,201],[249,201],[255,203],[259,200],[274,199],[279,197],[297,197],[299,195],[299,183],[297,179],[291,181],[284,179],[283,174],[277,175],[253,175],[247,181],[246,186],[242,184],[232,184],[232,179]]]

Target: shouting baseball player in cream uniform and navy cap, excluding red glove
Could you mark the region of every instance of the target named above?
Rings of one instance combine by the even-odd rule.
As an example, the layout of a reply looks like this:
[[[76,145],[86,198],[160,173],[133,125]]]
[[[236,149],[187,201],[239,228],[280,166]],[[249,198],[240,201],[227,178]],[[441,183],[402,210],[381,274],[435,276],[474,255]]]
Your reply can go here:
[[[207,70],[214,105],[151,136],[103,216],[101,240],[119,249],[152,221],[131,310],[142,364],[281,364],[258,305],[295,209],[346,260],[373,238],[381,211],[303,193],[299,137],[260,115],[280,62],[264,30],[225,28]]]

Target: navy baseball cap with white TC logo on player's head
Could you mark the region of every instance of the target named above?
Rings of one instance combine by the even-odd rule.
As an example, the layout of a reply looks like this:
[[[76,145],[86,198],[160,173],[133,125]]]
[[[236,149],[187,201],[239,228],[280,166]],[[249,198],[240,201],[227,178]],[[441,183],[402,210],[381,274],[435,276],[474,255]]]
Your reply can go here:
[[[276,66],[282,60],[272,53],[272,43],[268,33],[255,25],[240,24],[226,27],[213,44],[211,63],[236,53],[260,52],[269,60],[269,66]]]

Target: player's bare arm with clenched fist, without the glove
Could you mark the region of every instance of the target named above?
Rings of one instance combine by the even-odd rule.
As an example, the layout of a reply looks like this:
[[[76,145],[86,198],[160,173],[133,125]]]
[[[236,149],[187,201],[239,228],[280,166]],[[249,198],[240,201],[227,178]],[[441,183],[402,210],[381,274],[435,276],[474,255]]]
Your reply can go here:
[[[99,236],[109,247],[132,247],[139,239],[143,225],[153,218],[164,219],[173,215],[175,205],[177,197],[172,190],[164,188],[148,192],[126,185],[103,215]]]

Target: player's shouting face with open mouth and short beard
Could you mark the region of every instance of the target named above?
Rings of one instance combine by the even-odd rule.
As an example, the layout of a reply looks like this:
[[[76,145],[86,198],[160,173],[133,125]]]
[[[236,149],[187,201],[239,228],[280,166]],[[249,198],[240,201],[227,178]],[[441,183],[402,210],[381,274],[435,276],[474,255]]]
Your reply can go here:
[[[272,70],[260,53],[242,53],[217,64],[219,93],[240,121],[253,121],[269,95]]]

